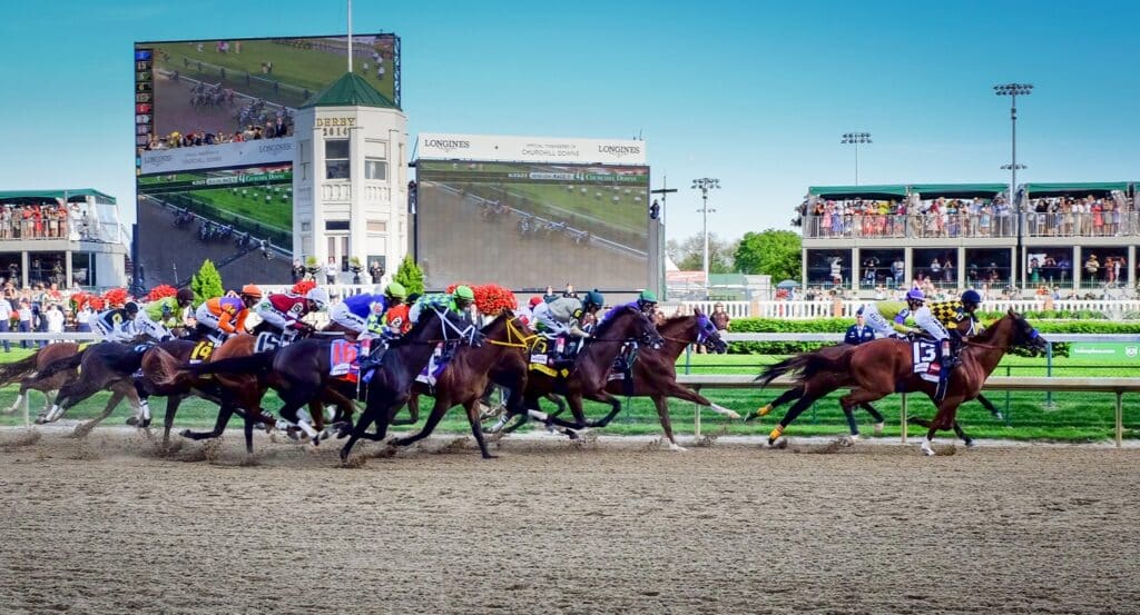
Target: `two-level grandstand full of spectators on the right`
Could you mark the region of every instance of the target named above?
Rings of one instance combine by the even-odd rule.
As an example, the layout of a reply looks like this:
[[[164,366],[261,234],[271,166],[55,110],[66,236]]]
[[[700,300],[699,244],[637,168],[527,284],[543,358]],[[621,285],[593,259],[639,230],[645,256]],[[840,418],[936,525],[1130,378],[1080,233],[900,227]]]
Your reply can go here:
[[[864,297],[915,281],[991,294],[1132,296],[1138,188],[1026,183],[1015,207],[1001,183],[811,187],[797,218],[801,282]]]

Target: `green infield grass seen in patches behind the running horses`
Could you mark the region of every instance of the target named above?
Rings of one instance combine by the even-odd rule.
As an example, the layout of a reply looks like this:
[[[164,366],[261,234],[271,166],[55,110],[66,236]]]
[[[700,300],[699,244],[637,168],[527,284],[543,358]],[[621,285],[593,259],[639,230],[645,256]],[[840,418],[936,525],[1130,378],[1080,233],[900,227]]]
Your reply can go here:
[[[14,348],[10,354],[0,353],[0,361],[16,360],[26,356],[28,351]],[[683,359],[683,358],[682,358]],[[755,374],[762,361],[769,363],[777,358],[760,355],[694,355],[693,364],[700,372],[716,374]],[[1127,368],[1114,368],[1109,370],[1099,369],[1094,362],[1088,360],[1057,359],[1054,375],[1059,376],[1131,376]],[[1040,376],[1044,375],[1043,361],[1041,359],[1007,358],[996,374],[1004,375],[1005,367],[1010,368],[1013,375]],[[780,391],[759,392],[751,390],[717,390],[707,392],[707,396],[714,402],[746,412],[756,409],[766,402],[772,401]],[[15,387],[0,390],[0,408],[7,409],[14,401]],[[33,416],[42,405],[42,397],[33,393],[32,413]],[[847,424],[839,411],[836,401],[837,395],[831,395],[815,404],[814,408],[800,416],[789,429],[788,435],[840,435],[847,433]],[[1093,442],[1107,441],[1114,433],[1114,396],[1112,394],[1099,393],[1054,393],[1052,395],[1053,405],[1047,408],[1045,393],[1004,393],[994,392],[991,400],[1005,415],[1004,421],[995,420],[985,409],[977,403],[968,403],[959,412],[959,420],[963,428],[971,436],[986,438],[1009,438],[1009,440],[1043,440],[1058,442]],[[97,415],[106,403],[107,394],[97,394],[91,400],[80,404],[68,412],[67,418],[90,418]],[[276,395],[267,396],[266,408],[276,409],[280,405]],[[547,402],[548,408],[548,402]],[[156,418],[161,420],[164,402],[156,401],[154,404]],[[886,437],[897,437],[899,433],[899,397],[890,396],[876,402],[876,407],[887,419]],[[426,410],[426,408],[425,408]],[[587,402],[587,415],[597,418],[604,415],[605,407]],[[727,421],[719,416],[705,411],[702,415],[702,430],[705,434],[734,434],[734,435],[763,435],[775,425],[782,417],[784,409],[776,410],[773,415],[756,423]],[[909,396],[909,411],[912,416],[931,417],[934,407],[928,400],[919,395]],[[187,400],[179,410],[177,425],[179,427],[207,427],[213,425],[217,409],[212,404],[201,400]],[[671,401],[670,415],[673,425],[677,434],[693,433],[693,407],[687,402]],[[108,425],[121,425],[129,410],[119,410]],[[864,434],[871,433],[871,419],[862,410],[856,411],[856,418],[862,426]],[[18,425],[21,415],[0,415],[0,425]],[[1124,424],[1125,437],[1140,437],[1140,396],[1124,396]],[[235,427],[239,426],[234,421]],[[448,418],[440,425],[441,433],[467,433],[466,420],[462,412],[453,410]],[[609,434],[660,434],[660,424],[657,412],[649,400],[634,399],[625,411],[618,416],[605,433]],[[910,429],[911,436],[923,433],[922,429],[913,427]],[[952,437],[945,433],[942,437]]]

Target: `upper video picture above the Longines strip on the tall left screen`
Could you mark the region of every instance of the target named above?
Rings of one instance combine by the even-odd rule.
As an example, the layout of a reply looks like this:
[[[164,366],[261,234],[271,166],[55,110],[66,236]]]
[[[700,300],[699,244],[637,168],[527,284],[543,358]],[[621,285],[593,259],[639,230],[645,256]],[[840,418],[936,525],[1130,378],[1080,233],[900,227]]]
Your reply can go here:
[[[352,36],[352,71],[400,104],[400,42]],[[267,131],[348,71],[347,36],[135,44],[136,144],[171,136]]]

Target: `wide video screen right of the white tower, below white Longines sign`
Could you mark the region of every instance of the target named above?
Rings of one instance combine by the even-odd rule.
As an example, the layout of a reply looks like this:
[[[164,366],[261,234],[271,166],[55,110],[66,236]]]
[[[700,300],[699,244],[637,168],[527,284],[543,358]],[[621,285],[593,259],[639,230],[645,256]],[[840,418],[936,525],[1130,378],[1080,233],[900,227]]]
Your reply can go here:
[[[429,288],[649,287],[648,166],[420,161],[416,177]]]

